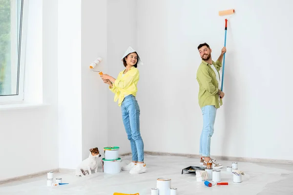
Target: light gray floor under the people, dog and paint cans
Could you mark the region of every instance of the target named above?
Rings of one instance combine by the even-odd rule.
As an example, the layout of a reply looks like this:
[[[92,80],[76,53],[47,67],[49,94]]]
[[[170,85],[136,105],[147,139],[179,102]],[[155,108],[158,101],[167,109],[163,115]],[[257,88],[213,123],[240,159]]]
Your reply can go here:
[[[131,160],[124,156],[122,164]],[[221,161],[221,182],[228,186],[207,187],[196,182],[195,176],[181,175],[182,169],[198,166],[199,159],[179,156],[145,156],[147,173],[132,176],[126,171],[117,175],[99,172],[77,177],[73,172],[54,173],[62,177],[63,186],[46,186],[46,175],[13,181],[0,185],[0,195],[113,195],[114,192],[150,195],[158,177],[171,178],[171,187],[178,188],[177,195],[293,195],[293,165],[238,162],[238,169],[245,173],[242,183],[233,183],[233,176],[226,172],[230,161]]]

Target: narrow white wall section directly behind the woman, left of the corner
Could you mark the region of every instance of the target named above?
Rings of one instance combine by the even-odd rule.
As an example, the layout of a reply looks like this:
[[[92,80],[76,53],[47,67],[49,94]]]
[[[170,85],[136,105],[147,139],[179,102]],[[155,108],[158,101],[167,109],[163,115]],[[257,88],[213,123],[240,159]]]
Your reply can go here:
[[[107,67],[110,76],[117,78],[119,72],[125,69],[121,58],[126,49],[137,48],[137,1],[110,0],[107,1]],[[105,84],[103,84],[105,85]],[[103,86],[108,88],[108,85]],[[114,94],[107,89],[108,108],[108,145],[119,146],[120,154],[130,152],[122,122],[121,107],[114,102]]]

